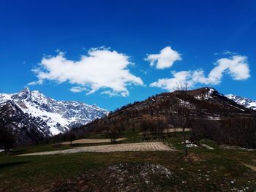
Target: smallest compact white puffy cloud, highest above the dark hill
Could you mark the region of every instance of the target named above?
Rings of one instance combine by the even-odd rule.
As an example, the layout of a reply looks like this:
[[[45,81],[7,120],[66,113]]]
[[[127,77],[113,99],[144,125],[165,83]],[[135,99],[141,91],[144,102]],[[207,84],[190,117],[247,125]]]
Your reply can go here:
[[[181,61],[181,55],[171,47],[165,47],[159,54],[148,54],[145,61],[149,61],[150,66],[156,66],[157,69],[165,69],[173,66],[175,61]]]

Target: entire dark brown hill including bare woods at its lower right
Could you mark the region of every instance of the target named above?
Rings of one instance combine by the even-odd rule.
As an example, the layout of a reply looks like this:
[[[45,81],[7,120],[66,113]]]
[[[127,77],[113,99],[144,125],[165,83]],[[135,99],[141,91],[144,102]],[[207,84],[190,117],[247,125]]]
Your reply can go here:
[[[167,128],[192,128],[194,142],[212,139],[219,144],[256,147],[256,112],[228,99],[214,88],[174,91],[128,104],[108,117],[73,129],[75,134],[114,134],[140,131],[144,139],[163,139]],[[147,137],[146,133],[151,133]]]

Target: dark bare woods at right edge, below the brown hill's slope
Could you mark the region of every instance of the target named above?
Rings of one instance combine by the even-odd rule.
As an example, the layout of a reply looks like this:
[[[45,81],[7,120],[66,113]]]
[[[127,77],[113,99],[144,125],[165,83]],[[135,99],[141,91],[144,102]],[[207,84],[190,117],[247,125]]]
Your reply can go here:
[[[219,144],[256,148],[256,117],[230,117],[222,120],[195,119],[192,139],[212,139]]]

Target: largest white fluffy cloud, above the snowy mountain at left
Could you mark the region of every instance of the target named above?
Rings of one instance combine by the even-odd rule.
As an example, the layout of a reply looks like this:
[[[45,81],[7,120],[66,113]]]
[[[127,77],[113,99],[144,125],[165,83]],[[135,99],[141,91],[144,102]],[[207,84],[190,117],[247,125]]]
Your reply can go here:
[[[128,96],[129,85],[143,85],[140,77],[129,72],[132,63],[129,57],[105,48],[89,50],[88,55],[82,55],[79,61],[68,60],[64,53],[42,58],[37,69],[36,82],[29,85],[42,84],[45,80],[69,82],[76,85],[70,91],[78,93],[86,91],[88,94],[99,89],[109,95]]]

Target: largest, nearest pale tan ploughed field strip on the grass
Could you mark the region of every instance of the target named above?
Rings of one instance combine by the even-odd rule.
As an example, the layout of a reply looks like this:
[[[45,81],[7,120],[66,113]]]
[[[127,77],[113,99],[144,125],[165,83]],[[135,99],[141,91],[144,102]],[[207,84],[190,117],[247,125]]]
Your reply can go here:
[[[139,143],[125,143],[116,145],[99,145],[89,147],[75,147],[69,150],[55,150],[39,153],[29,153],[25,155],[55,155],[55,154],[68,154],[80,152],[117,152],[117,151],[157,151],[157,150],[173,150],[162,142],[139,142]]]

